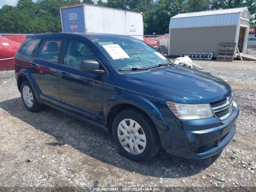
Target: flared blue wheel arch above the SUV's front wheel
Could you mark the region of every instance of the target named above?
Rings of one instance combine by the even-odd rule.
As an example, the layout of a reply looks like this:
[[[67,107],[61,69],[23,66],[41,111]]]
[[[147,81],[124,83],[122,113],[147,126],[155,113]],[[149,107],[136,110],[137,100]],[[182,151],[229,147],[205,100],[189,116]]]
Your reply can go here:
[[[112,96],[105,104],[104,104],[104,120],[105,125],[107,124],[108,114],[110,110],[118,105],[118,104],[130,104],[132,106],[136,106],[140,108],[142,111],[144,111],[154,122],[156,125],[156,128],[158,129],[158,124],[163,124],[162,129],[169,129],[168,124],[160,112],[160,110],[157,108],[154,103],[152,103],[150,100],[148,100],[144,96],[140,96],[138,94],[132,94],[132,93],[121,93],[116,94]]]

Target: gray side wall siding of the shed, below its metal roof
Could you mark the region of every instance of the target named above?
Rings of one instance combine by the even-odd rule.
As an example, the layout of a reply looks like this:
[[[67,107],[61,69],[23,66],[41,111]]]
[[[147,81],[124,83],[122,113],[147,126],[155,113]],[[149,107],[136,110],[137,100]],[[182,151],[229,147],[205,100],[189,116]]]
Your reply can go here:
[[[221,42],[235,42],[236,26],[213,26],[201,28],[178,28],[170,30],[170,52],[214,52],[218,54]]]

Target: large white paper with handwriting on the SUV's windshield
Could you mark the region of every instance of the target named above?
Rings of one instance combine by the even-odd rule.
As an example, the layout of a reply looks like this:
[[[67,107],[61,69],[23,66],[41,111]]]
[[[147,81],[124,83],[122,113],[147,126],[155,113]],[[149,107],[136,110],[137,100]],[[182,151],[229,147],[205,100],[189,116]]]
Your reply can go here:
[[[110,54],[113,60],[130,58],[128,54],[118,44],[102,45],[104,49]]]

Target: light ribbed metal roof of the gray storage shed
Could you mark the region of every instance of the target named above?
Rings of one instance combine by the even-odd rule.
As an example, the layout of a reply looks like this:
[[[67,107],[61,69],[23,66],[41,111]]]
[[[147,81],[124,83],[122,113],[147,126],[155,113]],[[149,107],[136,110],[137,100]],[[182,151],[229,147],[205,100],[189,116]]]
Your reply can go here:
[[[209,26],[238,25],[241,13],[247,7],[182,13],[170,19],[169,28],[192,28]],[[248,11],[249,12],[249,11]]]

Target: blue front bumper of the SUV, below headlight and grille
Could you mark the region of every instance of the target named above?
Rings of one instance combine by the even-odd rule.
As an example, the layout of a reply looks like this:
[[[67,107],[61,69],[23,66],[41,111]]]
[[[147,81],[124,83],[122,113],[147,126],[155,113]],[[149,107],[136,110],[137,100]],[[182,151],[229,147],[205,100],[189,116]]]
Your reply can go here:
[[[216,117],[199,120],[179,120],[162,117],[157,124],[162,148],[170,154],[192,159],[204,159],[222,151],[236,132],[238,106],[220,121]],[[160,116],[158,116],[160,118]]]

